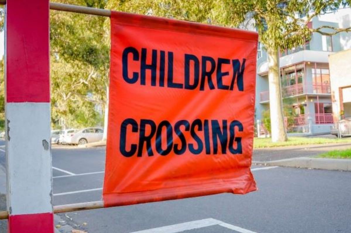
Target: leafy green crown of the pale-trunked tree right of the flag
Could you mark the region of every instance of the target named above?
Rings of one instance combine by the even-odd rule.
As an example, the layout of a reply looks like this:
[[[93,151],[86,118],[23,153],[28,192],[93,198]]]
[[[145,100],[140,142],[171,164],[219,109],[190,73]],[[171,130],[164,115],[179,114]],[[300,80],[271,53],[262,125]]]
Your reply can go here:
[[[324,27],[314,30],[310,29],[307,23],[314,16],[335,11],[340,5],[350,4],[350,0],[222,0],[220,2],[225,6],[220,9],[225,12],[219,20],[220,23],[227,25],[227,22],[232,22],[232,25],[237,26],[252,19],[260,41],[267,50],[290,49],[309,40],[313,32],[325,32]],[[300,15],[306,17],[297,17]],[[333,28],[333,30],[333,33],[338,32],[338,29]]]

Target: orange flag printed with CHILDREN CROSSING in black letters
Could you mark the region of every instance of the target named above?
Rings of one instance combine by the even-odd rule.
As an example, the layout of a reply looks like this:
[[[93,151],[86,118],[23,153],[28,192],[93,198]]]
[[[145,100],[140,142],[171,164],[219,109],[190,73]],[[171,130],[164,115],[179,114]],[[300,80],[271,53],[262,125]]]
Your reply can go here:
[[[112,12],[105,206],[256,190],[257,39]]]

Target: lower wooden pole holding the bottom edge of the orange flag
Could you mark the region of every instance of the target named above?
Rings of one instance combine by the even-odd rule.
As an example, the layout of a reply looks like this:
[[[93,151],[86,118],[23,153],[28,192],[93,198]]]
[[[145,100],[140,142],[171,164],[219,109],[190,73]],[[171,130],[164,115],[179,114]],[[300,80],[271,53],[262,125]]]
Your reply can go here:
[[[67,205],[56,205],[54,206],[54,213],[65,213],[72,211],[80,211],[80,210],[93,210],[104,208],[104,202],[83,202],[83,203],[75,203],[75,204],[67,204]],[[0,211],[0,220],[8,219],[7,211]]]

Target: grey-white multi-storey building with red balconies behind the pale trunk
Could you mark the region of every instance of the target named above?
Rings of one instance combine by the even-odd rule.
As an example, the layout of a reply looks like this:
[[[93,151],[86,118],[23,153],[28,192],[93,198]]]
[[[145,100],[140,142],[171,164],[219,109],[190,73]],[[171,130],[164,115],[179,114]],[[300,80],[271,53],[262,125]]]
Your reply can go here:
[[[322,25],[347,27],[350,15],[340,17],[340,22],[322,21],[314,17],[309,27]],[[346,23],[345,23],[346,22]],[[350,27],[350,26],[348,26]],[[288,133],[325,134],[330,133],[335,121],[332,107],[332,90],[329,70],[329,56],[351,48],[351,33],[325,36],[313,33],[304,45],[280,52],[280,81],[282,85],[285,126]],[[350,61],[351,62],[351,61]],[[256,76],[256,120],[262,122],[269,115],[268,63],[265,50],[258,45]],[[261,124],[259,134],[267,134]]]

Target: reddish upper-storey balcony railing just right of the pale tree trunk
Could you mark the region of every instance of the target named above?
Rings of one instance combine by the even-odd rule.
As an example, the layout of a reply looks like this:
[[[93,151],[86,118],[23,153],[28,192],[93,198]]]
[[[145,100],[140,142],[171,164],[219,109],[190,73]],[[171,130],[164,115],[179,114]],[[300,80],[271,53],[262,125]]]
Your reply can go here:
[[[324,83],[298,83],[283,87],[283,97],[295,96],[298,94],[330,94],[330,84]]]

